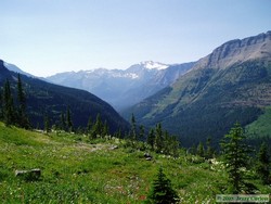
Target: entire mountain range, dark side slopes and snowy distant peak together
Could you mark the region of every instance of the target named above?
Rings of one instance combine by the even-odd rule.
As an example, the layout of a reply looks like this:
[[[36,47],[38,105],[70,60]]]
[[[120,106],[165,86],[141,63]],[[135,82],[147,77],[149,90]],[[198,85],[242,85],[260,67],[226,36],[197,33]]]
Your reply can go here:
[[[0,65],[4,67],[3,62]],[[9,73],[15,86],[15,73],[1,67],[0,84],[3,73]],[[125,71],[68,72],[46,79],[62,86],[27,76],[23,80],[35,122],[41,122],[38,113],[46,111],[57,120],[70,103],[77,126],[87,124],[89,115],[94,118],[102,113],[114,130],[128,128],[106,101],[127,120],[133,114],[146,128],[160,123],[186,146],[209,137],[216,145],[236,122],[249,136],[271,137],[271,31],[228,41],[185,64],[146,61]]]

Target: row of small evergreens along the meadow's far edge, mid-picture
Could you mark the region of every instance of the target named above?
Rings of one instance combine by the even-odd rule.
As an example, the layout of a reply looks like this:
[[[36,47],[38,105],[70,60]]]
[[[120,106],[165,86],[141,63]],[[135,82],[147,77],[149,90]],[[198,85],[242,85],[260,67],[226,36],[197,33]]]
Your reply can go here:
[[[133,149],[155,151],[156,153],[163,153],[166,155],[172,155],[177,157],[179,155],[180,142],[175,136],[170,136],[167,130],[164,130],[162,124],[157,124],[154,128],[146,130],[142,125],[137,125],[134,115],[132,114],[130,120],[131,127],[128,132],[124,132],[121,129],[109,133],[109,127],[106,120],[102,120],[101,115],[98,114],[95,119],[89,117],[86,127],[79,127],[75,129],[73,127],[73,119],[70,117],[70,110],[67,106],[66,113],[61,113],[60,120],[56,124],[51,125],[49,116],[44,117],[44,131],[75,131],[76,133],[83,133],[89,137],[89,140],[94,139],[108,139],[112,137],[126,140],[126,145]]]

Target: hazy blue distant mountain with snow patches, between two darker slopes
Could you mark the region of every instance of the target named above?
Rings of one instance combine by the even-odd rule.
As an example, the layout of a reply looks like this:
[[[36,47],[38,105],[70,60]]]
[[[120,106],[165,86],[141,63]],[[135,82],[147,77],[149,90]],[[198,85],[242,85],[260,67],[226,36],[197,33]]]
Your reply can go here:
[[[175,82],[194,63],[167,65],[146,61],[127,69],[98,68],[60,73],[47,80],[87,90],[121,111]]]

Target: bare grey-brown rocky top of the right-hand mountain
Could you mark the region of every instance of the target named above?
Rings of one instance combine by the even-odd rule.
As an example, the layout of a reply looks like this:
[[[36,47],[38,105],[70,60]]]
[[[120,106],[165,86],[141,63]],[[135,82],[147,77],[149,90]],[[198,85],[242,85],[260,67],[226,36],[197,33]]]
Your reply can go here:
[[[244,61],[266,58],[271,58],[271,31],[228,41],[199,60],[195,68],[227,68]]]

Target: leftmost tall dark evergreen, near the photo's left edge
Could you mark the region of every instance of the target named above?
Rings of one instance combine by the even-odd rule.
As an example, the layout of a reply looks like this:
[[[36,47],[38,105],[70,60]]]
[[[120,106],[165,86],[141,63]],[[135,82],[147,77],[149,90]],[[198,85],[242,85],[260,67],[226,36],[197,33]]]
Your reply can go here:
[[[3,93],[3,117],[7,126],[14,125],[15,122],[15,109],[14,102],[11,94],[10,81],[7,80],[4,84]]]

